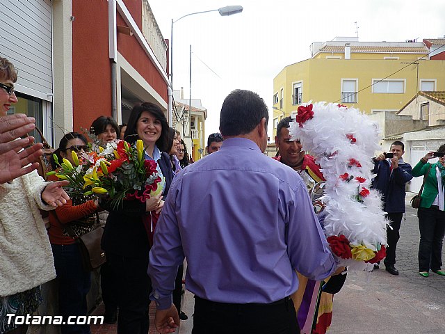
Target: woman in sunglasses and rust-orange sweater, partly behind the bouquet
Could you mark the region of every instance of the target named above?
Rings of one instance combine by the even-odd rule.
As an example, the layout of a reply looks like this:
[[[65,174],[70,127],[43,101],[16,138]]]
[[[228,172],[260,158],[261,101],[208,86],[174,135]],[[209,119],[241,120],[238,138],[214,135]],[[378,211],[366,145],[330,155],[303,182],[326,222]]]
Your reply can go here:
[[[74,164],[73,154],[79,155],[80,159],[80,155],[88,148],[87,143],[83,134],[70,132],[60,140],[54,154],[58,156],[58,161],[65,158]],[[48,234],[58,279],[59,313],[64,322],[70,316],[87,315],[86,295],[90,291],[91,273],[83,269],[76,239],[99,223],[97,209],[97,200],[72,196],[72,200],[65,205],[49,212]],[[87,324],[63,324],[61,329],[62,334],[90,334],[90,326]]]

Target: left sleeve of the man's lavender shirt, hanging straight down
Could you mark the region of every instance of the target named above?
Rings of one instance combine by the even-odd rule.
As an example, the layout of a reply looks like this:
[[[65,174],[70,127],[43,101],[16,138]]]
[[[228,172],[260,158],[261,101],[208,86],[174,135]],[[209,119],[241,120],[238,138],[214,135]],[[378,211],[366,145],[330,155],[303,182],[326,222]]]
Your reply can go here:
[[[170,188],[161,216],[156,224],[153,246],[149,255],[148,275],[152,279],[150,299],[159,310],[172,305],[172,292],[179,264],[184,262],[176,210],[181,207],[179,191]]]

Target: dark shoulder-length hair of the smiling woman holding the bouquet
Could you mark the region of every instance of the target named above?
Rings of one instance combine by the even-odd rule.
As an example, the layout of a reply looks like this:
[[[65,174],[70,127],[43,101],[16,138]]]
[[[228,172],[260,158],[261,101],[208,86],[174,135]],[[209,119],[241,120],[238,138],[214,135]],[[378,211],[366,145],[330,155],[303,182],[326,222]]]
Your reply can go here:
[[[159,148],[159,150],[163,152],[168,152],[168,122],[167,118],[165,118],[164,113],[162,112],[161,108],[157,106],[156,104],[152,102],[144,102],[141,104],[136,104],[136,106],[133,106],[133,109],[131,109],[130,118],[128,120],[127,129],[125,130],[124,138],[125,141],[128,141],[129,143],[136,143],[136,140],[139,139],[138,137],[138,120],[140,118],[140,114],[144,111],[147,111],[151,113],[156,120],[159,120],[161,122],[162,126],[162,132],[159,139],[156,141],[156,146]]]

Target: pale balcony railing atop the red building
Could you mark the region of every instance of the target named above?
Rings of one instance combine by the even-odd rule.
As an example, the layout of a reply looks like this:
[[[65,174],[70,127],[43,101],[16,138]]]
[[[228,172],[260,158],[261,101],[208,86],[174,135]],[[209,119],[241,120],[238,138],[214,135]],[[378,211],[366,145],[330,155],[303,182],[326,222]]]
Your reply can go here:
[[[161,63],[162,68],[167,72],[167,44],[156,19],[154,19],[148,0],[143,0],[142,3],[142,33],[156,58],[158,58],[159,63]]]

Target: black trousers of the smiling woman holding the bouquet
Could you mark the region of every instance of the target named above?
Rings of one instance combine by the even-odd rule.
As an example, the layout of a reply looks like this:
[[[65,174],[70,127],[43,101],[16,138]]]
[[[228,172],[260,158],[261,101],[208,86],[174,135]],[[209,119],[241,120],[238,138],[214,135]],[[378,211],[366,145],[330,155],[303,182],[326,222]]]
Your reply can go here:
[[[118,334],[148,334],[149,294],[152,281],[147,275],[145,259],[106,254],[115,279],[118,300]]]

